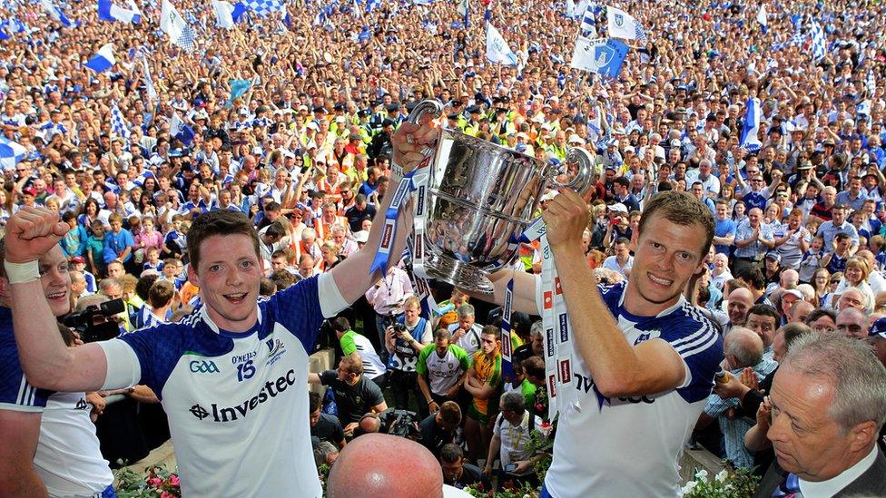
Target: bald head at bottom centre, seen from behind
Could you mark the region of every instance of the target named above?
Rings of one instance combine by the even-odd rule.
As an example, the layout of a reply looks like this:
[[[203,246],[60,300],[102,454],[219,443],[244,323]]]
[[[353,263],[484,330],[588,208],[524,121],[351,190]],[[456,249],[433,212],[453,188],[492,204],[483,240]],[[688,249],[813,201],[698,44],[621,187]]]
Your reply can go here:
[[[329,498],[441,498],[443,471],[427,448],[404,437],[361,435],[332,466]]]

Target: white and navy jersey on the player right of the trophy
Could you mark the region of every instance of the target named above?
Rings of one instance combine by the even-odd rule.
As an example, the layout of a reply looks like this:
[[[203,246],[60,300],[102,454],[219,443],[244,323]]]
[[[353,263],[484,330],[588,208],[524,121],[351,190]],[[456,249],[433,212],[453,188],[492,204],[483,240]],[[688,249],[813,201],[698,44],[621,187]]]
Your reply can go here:
[[[630,344],[663,340],[674,348],[684,360],[684,383],[655,395],[608,398],[597,390],[576,347],[568,387],[577,390],[576,402],[561,410],[545,479],[552,496],[680,495],[678,457],[711,394],[724,358],[723,339],[682,297],[655,317],[628,313],[626,287],[623,282],[598,290]]]

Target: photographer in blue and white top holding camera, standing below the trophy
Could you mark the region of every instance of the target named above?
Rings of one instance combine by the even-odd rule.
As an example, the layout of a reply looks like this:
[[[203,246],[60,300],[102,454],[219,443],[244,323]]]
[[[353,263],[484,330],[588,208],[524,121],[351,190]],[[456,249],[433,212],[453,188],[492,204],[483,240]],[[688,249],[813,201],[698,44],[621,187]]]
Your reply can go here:
[[[390,354],[388,361],[389,386],[394,393],[394,405],[409,408],[409,393],[416,397],[418,414],[428,415],[428,403],[418,389],[418,353],[432,340],[430,323],[419,317],[421,305],[418,298],[409,296],[403,306],[402,317],[385,329],[385,347]]]

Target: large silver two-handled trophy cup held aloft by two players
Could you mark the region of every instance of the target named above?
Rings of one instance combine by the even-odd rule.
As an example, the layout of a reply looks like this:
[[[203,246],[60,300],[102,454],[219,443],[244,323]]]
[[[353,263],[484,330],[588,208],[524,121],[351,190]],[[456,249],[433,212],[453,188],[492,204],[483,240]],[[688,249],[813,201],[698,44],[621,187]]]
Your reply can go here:
[[[442,111],[436,101],[423,101],[409,122]],[[577,164],[577,172],[561,183],[556,181],[560,168],[548,161],[444,127],[422,182],[427,193],[419,188],[413,202],[415,272],[491,294],[487,274],[514,259],[546,188],[584,193],[590,187],[593,159],[587,151],[568,151],[566,164]]]

